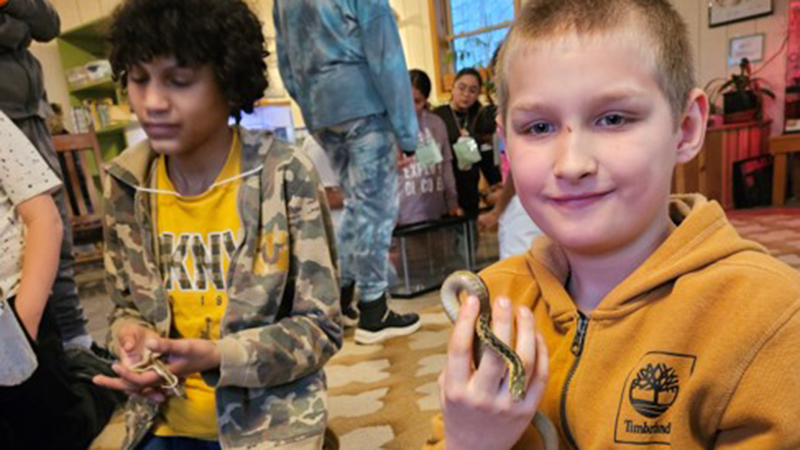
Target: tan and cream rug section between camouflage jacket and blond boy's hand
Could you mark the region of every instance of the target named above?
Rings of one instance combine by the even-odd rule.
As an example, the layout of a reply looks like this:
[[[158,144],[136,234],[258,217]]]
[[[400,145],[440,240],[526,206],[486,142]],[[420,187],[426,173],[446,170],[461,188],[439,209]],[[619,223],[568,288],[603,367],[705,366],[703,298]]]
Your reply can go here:
[[[430,436],[451,325],[438,306],[421,320],[420,331],[381,345],[347,336],[326,367],[330,426],[342,449],[419,449]]]

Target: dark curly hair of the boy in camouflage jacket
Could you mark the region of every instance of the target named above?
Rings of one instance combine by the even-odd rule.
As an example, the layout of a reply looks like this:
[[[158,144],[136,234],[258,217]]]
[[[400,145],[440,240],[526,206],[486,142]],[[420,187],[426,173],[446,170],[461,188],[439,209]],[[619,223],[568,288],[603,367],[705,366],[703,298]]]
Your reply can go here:
[[[123,87],[134,65],[157,57],[210,64],[237,122],[269,85],[261,22],[241,0],[127,0],[114,11],[108,40]]]

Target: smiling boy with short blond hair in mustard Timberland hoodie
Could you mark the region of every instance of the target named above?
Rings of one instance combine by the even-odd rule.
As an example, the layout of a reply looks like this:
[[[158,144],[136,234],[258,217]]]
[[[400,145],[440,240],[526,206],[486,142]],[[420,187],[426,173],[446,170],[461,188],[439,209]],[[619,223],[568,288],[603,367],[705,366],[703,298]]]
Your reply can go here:
[[[495,332],[510,342],[516,327],[527,393],[511,399],[494,352],[473,369],[468,299],[434,445],[800,448],[800,276],[716,202],[669,195],[708,117],[690,56],[666,0],[523,8],[500,59],[498,125],[546,236],[481,275]]]

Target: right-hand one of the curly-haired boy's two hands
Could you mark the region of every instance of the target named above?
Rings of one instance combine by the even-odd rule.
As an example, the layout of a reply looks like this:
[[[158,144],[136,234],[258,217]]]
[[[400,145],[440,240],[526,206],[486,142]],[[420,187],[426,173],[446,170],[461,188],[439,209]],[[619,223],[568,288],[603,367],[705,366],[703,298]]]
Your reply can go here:
[[[193,373],[216,369],[221,362],[219,347],[207,339],[148,338],[147,348],[160,353],[167,361],[167,369],[180,378]]]

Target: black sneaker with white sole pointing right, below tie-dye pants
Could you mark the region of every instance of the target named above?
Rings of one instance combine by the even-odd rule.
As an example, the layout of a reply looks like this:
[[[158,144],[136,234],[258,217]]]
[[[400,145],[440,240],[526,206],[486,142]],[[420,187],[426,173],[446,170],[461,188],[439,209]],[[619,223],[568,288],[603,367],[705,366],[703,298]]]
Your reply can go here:
[[[377,344],[419,330],[419,315],[398,314],[386,306],[386,295],[361,303],[361,318],[356,329],[356,344]]]

